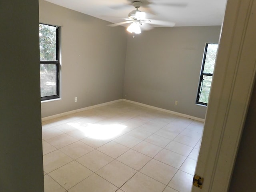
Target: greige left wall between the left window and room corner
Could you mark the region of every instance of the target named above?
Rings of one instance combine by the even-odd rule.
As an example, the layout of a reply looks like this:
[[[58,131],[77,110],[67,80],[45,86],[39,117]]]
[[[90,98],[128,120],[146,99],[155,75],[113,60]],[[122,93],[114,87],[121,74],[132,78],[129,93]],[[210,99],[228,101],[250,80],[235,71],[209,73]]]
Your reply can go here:
[[[109,27],[109,22],[43,0],[39,18],[62,26],[61,100],[42,103],[42,117],[123,97],[127,42],[123,27]]]

